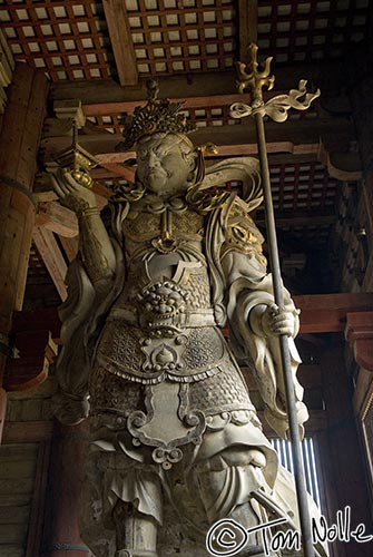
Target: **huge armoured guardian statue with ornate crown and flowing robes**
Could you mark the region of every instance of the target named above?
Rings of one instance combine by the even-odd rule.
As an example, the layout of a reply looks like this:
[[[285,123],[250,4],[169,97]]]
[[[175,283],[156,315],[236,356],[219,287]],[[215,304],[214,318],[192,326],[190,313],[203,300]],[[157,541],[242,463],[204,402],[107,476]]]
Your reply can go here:
[[[52,174],[80,231],[60,311],[55,409],[63,423],[90,421],[80,516],[97,557],[208,556],[206,535],[224,518],[253,528],[286,517],[287,529],[298,527],[292,478],[237,363],[254,375],[267,422],[286,437],[277,339],[286,334],[302,428],[298,312],[287,292],[285,307],[274,304],[251,217],[262,202],[258,163],[205,168],[181,104],[156,97],[153,84],[125,126],[118,148],[135,146],[136,178],[111,197],[110,219],[85,172]],[[237,555],[263,551],[253,532]]]

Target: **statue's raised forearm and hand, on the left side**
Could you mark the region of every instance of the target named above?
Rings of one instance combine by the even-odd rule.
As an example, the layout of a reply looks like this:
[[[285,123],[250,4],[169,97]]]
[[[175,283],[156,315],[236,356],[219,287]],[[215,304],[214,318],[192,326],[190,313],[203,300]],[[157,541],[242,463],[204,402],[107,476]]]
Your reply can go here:
[[[79,184],[69,170],[59,169],[51,179],[61,204],[78,217],[79,251],[90,280],[95,285],[110,280],[116,257],[94,192]]]

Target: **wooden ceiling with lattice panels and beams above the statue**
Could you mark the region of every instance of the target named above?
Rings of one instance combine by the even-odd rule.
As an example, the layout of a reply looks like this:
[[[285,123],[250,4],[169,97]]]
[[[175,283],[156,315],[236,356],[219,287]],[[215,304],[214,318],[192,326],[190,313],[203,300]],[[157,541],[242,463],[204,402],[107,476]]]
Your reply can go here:
[[[159,80],[160,97],[185,99],[185,111],[197,127],[193,139],[213,140],[219,157],[257,152],[252,121],[229,116],[232,102],[242,99],[235,62],[247,61],[249,42],[258,45],[261,59],[274,58],[271,96],[296,88],[300,78],[311,88],[321,87],[321,102],[310,110],[291,113],[285,124],[266,123],[282,250],[303,250],[307,257],[312,250],[327,248],[338,218],[341,182],[360,177],[354,127],[341,91],[344,57],[363,51],[371,8],[370,0],[2,0],[0,29],[14,59],[50,80],[40,170],[71,140],[71,126],[52,111],[53,102],[77,99],[79,141],[100,160],[94,177],[104,197],[107,186],[132,175],[126,166],[132,154],[118,154],[115,146],[124,114],[146,98],[147,78]],[[332,97],[337,100],[325,101]],[[53,204],[42,182],[35,188],[39,201]],[[67,216],[69,234],[63,236],[52,207],[42,207],[39,226],[48,222],[55,250],[68,262],[76,250],[76,223]],[[257,219],[262,225],[261,211]],[[38,260],[46,262],[40,250],[31,257],[33,290],[41,281],[36,278]],[[55,276],[57,287],[58,281]]]

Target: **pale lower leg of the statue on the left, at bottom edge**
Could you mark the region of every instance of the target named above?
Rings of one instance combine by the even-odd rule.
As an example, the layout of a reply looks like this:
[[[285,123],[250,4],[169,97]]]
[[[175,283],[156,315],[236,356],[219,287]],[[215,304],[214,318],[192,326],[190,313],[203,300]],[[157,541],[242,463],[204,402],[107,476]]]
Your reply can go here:
[[[116,557],[157,557],[157,524],[154,518],[124,501],[117,502],[112,518],[117,532]]]

